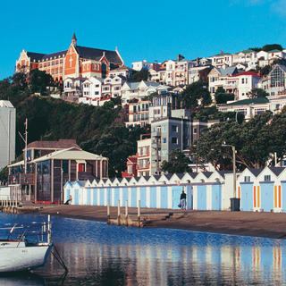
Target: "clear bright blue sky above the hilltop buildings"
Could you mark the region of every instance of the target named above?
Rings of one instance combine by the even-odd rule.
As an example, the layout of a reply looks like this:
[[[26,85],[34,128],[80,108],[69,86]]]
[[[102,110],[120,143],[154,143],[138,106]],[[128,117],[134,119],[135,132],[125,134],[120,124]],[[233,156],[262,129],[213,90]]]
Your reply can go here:
[[[73,31],[79,46],[117,46],[130,65],[273,43],[286,47],[285,24],[285,0],[5,1],[0,80],[13,75],[23,48],[44,54],[65,50]]]

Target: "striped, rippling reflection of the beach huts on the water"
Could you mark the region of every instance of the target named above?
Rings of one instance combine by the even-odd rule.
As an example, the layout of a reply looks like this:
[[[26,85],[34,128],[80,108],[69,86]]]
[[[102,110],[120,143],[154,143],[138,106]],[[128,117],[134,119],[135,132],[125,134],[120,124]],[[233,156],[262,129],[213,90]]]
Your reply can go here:
[[[67,285],[282,284],[282,246],[148,246],[61,243]],[[46,274],[62,270],[51,257]]]

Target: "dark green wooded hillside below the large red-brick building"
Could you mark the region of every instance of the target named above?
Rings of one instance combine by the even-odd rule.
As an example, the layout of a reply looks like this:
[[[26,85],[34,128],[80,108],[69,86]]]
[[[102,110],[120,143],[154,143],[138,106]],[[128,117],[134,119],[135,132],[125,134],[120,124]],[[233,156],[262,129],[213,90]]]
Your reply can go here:
[[[84,150],[109,158],[110,176],[121,176],[127,156],[134,155],[137,139],[146,130],[124,127],[121,106],[109,102],[103,107],[77,105],[52,97],[38,97],[26,85],[15,80],[0,81],[0,100],[10,100],[17,112],[16,156],[24,143],[18,135],[24,132],[28,119],[28,143],[35,140],[76,139]]]

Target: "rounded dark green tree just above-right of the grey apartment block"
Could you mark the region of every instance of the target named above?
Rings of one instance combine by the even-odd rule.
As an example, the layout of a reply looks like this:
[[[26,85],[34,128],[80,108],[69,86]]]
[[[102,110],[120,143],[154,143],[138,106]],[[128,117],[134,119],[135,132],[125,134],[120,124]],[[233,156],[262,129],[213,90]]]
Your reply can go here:
[[[198,80],[185,88],[179,96],[185,108],[196,109],[212,103],[212,98],[206,84]]]

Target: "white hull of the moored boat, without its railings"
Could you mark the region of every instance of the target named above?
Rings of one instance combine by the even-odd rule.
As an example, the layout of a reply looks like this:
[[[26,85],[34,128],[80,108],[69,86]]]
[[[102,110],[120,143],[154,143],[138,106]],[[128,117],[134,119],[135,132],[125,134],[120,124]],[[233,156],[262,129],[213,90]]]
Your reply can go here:
[[[52,244],[0,248],[0,273],[24,271],[45,265]]]

